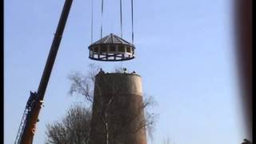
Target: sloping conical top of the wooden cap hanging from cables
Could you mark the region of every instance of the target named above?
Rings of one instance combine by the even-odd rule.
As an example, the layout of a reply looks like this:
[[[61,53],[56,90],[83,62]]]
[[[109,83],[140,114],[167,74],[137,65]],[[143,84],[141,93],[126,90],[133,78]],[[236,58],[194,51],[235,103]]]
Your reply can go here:
[[[132,43],[127,42],[126,40],[118,37],[115,34],[109,34],[106,37],[98,40],[97,42],[92,43],[90,46],[100,45],[100,44],[122,44],[122,45],[134,46]]]

